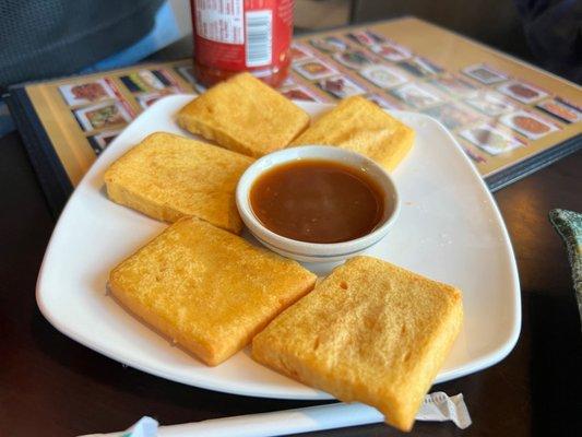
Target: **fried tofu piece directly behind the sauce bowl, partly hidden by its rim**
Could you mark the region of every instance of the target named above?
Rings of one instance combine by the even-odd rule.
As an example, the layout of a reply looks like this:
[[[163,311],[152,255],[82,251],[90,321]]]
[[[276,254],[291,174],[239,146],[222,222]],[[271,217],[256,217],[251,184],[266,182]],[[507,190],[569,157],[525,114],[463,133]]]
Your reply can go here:
[[[292,145],[336,145],[376,161],[391,172],[411,151],[414,130],[361,96],[343,99]]]

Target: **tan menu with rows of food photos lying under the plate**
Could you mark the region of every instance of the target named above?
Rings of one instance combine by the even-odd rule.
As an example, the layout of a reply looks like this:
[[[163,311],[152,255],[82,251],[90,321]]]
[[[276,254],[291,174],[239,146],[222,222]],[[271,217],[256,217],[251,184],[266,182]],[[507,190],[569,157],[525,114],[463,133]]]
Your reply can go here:
[[[67,179],[67,191],[155,101],[204,87],[186,59],[11,91],[21,133],[41,130],[23,133],[33,164],[45,173],[40,180]],[[292,73],[280,91],[322,103],[361,94],[388,110],[431,116],[494,190],[582,147],[580,86],[414,17],[295,38]],[[48,151],[39,155],[38,147]]]

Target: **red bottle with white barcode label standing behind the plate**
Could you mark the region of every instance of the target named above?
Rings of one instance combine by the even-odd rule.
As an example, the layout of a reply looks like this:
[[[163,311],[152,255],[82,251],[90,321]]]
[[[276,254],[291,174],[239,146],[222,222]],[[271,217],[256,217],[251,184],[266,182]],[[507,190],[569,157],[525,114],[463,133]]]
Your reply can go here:
[[[250,71],[271,86],[288,74],[293,0],[191,0],[194,74],[205,86]]]

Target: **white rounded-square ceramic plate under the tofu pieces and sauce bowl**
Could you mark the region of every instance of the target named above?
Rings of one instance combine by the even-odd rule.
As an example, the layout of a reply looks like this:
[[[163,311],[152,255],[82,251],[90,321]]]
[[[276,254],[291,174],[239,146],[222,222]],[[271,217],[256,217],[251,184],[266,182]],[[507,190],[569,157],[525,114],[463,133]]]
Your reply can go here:
[[[155,131],[186,134],[176,111],[192,96],[166,97],[112,141],[62,212],[40,269],[36,298],[62,333],[128,366],[205,389],[254,397],[330,395],[254,363],[242,351],[206,367],[142,324],[106,295],[111,268],[165,225],[109,201],[103,174]],[[329,105],[298,103],[311,115]],[[518,340],[520,287],[508,233],[482,178],[452,135],[420,114],[393,114],[416,130],[409,156],[394,172],[402,196],[399,221],[367,253],[454,284],[463,291],[465,321],[437,381],[502,359]],[[308,265],[310,268],[310,265]],[[330,265],[319,265],[325,273]]]

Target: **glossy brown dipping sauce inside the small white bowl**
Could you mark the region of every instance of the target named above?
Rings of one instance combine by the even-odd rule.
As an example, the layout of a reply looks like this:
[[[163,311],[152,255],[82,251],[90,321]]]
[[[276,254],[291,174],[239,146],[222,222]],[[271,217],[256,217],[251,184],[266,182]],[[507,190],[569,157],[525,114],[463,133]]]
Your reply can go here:
[[[270,231],[308,243],[341,243],[369,234],[384,208],[361,170],[325,160],[298,160],[261,175],[250,189],[254,215]]]

